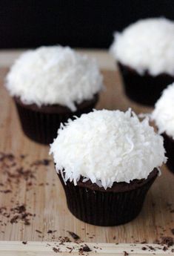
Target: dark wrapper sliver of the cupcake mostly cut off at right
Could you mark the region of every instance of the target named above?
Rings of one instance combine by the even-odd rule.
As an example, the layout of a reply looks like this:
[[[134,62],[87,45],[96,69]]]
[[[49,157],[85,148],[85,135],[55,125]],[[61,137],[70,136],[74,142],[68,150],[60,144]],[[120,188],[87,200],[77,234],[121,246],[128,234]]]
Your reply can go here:
[[[174,174],[174,140],[165,133],[161,135],[164,137],[164,148],[166,150],[166,157],[168,158],[166,165]]]

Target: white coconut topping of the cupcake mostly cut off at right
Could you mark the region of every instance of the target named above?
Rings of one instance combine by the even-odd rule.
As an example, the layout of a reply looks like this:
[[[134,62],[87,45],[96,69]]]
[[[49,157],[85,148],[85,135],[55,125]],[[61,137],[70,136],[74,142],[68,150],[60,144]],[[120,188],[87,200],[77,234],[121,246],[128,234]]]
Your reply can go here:
[[[151,118],[155,120],[159,134],[165,132],[174,140],[174,83],[163,91],[155,103]]]

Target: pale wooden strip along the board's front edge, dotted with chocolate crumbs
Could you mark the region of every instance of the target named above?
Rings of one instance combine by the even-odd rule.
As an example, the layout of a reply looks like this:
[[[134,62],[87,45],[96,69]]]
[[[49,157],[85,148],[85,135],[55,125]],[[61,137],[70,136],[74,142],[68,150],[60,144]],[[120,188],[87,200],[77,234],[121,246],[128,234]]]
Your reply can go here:
[[[81,251],[84,246],[89,246],[91,252]],[[167,248],[167,246],[166,246]],[[165,250],[164,246],[157,244],[139,243],[64,243],[60,242],[33,242],[27,241],[0,241],[0,255],[174,255],[174,246]]]

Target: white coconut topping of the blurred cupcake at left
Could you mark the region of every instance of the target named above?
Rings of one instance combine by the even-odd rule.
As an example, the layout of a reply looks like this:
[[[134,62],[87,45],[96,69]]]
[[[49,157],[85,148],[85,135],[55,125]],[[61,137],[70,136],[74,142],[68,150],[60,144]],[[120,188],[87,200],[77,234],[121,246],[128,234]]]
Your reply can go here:
[[[51,46],[22,54],[7,74],[6,87],[25,104],[59,104],[76,111],[75,103],[101,91],[102,79],[94,59]]]

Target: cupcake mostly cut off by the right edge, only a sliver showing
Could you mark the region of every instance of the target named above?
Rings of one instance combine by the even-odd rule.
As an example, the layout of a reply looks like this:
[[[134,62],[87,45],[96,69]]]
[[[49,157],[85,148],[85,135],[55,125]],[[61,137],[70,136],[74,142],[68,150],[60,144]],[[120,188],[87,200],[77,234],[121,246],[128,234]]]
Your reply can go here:
[[[174,173],[174,83],[169,85],[155,104],[151,118],[164,137],[167,167]]]

